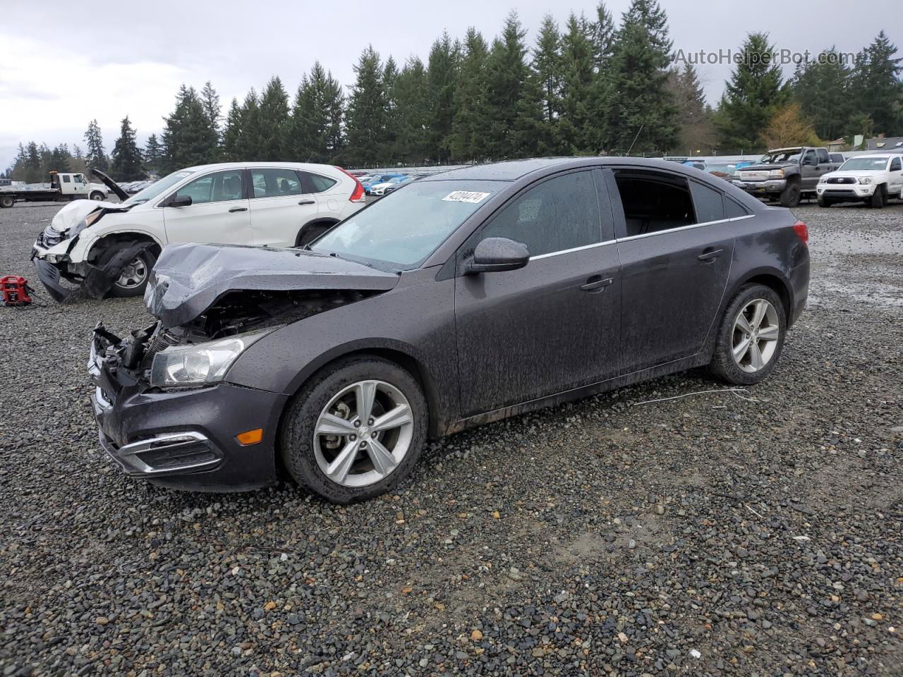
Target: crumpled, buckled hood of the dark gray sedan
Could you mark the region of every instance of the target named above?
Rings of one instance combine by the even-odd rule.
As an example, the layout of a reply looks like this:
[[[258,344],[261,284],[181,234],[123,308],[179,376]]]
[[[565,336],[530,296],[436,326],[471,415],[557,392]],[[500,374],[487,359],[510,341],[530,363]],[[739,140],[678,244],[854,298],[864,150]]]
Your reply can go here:
[[[197,318],[237,290],[354,290],[387,292],[398,275],[338,256],[300,249],[241,245],[168,245],[154,265],[144,304],[163,327]]]

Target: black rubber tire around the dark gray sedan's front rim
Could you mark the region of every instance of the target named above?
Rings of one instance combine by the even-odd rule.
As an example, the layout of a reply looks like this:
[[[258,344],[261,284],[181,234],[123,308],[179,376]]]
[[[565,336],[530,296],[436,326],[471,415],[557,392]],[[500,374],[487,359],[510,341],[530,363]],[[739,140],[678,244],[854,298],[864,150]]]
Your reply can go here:
[[[405,457],[390,474],[367,486],[347,487],[328,478],[317,462],[314,428],[336,394],[365,380],[383,381],[401,391],[410,404],[414,428]],[[279,431],[280,453],[285,469],[302,487],[331,503],[356,503],[385,494],[410,474],[426,440],[427,420],[426,399],[414,376],[381,357],[349,357],[324,367],[294,396]]]

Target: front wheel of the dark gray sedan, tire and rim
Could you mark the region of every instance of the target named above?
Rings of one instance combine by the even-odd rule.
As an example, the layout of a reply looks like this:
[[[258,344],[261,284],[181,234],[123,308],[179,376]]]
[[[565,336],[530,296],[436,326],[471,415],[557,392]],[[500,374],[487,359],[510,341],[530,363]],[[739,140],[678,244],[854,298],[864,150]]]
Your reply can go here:
[[[352,357],[326,367],[294,398],[280,446],[299,485],[348,504],[405,479],[426,428],[426,400],[414,376],[379,357]]]

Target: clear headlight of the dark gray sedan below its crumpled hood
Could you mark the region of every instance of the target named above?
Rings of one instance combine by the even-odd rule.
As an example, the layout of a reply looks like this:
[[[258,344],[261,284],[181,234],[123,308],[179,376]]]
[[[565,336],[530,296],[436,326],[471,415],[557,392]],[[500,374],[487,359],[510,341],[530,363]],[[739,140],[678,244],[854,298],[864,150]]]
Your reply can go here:
[[[237,357],[272,330],[161,350],[151,365],[151,385],[173,388],[219,383]]]

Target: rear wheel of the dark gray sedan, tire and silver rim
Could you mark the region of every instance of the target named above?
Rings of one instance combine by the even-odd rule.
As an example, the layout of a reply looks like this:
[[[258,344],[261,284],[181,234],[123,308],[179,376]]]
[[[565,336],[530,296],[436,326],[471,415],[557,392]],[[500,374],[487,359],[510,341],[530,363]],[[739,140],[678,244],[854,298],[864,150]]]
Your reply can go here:
[[[771,374],[784,347],[784,304],[764,284],[746,284],[731,299],[715,338],[710,369],[729,384],[752,385]]]

